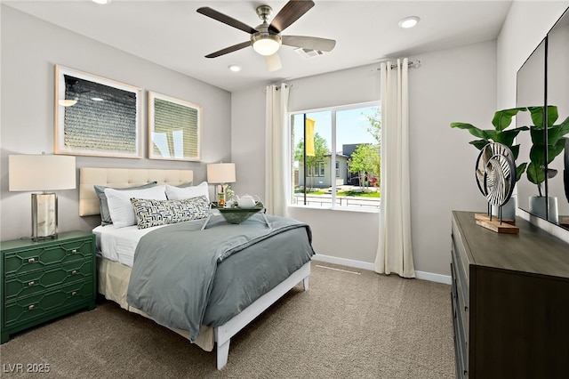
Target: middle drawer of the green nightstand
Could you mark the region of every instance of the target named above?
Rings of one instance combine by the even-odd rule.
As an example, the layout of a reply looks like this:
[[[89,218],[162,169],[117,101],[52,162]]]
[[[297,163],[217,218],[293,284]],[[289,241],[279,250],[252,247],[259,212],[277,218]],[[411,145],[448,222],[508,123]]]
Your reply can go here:
[[[46,270],[30,271],[6,278],[4,297],[10,301],[92,277],[92,259],[66,263]]]

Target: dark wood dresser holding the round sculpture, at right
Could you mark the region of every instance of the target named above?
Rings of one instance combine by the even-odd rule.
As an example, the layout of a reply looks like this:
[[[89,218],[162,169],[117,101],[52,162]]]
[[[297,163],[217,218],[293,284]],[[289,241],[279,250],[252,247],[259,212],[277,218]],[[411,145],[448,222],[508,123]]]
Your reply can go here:
[[[459,378],[569,377],[569,244],[517,218],[519,234],[453,211]]]

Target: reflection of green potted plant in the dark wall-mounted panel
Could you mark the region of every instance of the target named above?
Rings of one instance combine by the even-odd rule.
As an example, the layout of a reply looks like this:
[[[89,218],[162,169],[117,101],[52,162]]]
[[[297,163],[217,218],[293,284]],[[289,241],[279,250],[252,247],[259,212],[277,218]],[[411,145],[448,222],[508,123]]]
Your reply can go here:
[[[545,209],[549,208],[549,221],[557,222],[557,198],[549,198],[546,201],[545,194],[541,190],[541,184],[546,178],[553,178],[557,170],[545,169],[545,152],[547,151],[548,165],[565,149],[565,134],[569,133],[569,117],[561,124],[555,125],[557,118],[557,106],[549,105],[547,115],[545,107],[528,107],[532,115],[533,125],[530,126],[532,148],[530,149],[530,163],[527,165],[527,179],[537,185],[538,195],[530,198],[530,212],[545,218]],[[544,128],[547,116],[547,145]]]

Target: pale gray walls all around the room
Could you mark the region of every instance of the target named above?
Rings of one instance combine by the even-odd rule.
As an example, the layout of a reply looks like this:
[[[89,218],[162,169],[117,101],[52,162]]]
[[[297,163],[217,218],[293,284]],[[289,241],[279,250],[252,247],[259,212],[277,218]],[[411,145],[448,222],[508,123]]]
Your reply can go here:
[[[410,70],[416,270],[448,275],[450,210],[485,209],[471,168],[477,151],[468,145],[469,134],[451,130],[449,123],[490,125],[496,109],[515,106],[517,69],[568,5],[567,1],[514,2],[497,44],[489,41],[416,57],[422,61],[420,69]],[[264,88],[230,94],[12,8],[2,6],[1,11],[0,238],[29,235],[29,193],[8,192],[6,157],[52,152],[54,64],[203,105],[204,163],[232,158],[236,193],[264,196]],[[528,23],[529,19],[533,21]],[[294,80],[291,109],[375,101],[380,88],[375,68]],[[146,125],[145,113],[142,125]],[[197,163],[78,157],[77,166],[191,168],[196,181],[205,179],[204,164]],[[60,230],[90,230],[98,222],[96,217],[77,216],[76,190],[58,194]],[[377,214],[302,208],[291,208],[289,213],[313,226],[317,253],[368,265],[373,262]],[[349,238],[344,238],[347,234]],[[348,240],[357,244],[347,244]]]

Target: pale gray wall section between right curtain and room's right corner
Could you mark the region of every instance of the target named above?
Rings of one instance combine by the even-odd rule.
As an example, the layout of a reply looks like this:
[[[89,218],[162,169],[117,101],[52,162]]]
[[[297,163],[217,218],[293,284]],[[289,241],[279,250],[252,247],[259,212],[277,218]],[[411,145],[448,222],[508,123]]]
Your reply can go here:
[[[478,150],[454,121],[492,128],[496,44],[488,41],[422,54],[409,77],[411,209],[415,269],[450,275],[451,210],[484,212],[477,189]]]

